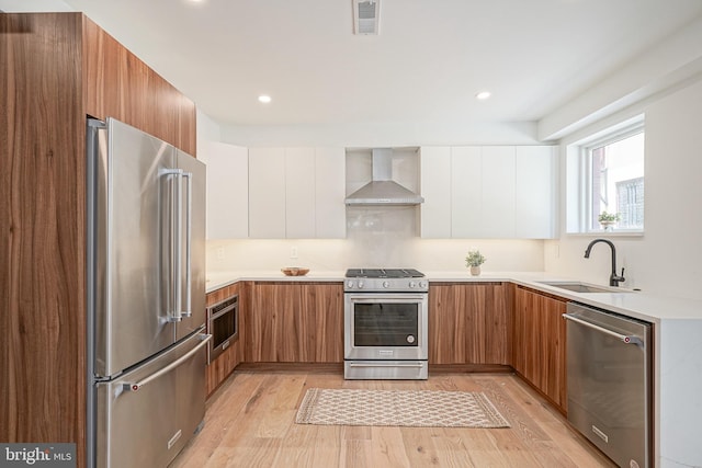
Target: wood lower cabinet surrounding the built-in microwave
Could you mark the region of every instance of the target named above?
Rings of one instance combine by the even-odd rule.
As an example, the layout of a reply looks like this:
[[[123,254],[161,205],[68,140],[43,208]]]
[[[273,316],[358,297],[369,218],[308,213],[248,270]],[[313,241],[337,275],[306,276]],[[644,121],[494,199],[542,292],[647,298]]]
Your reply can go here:
[[[207,307],[213,306],[234,295],[239,295],[239,339],[207,365],[205,374],[207,396],[212,395],[212,392],[215,391],[227,377],[229,377],[229,374],[231,374],[234,368],[244,361],[244,345],[241,344],[244,341],[244,333],[241,332],[241,318],[246,315],[246,284],[235,283],[208,293],[206,305]]]

